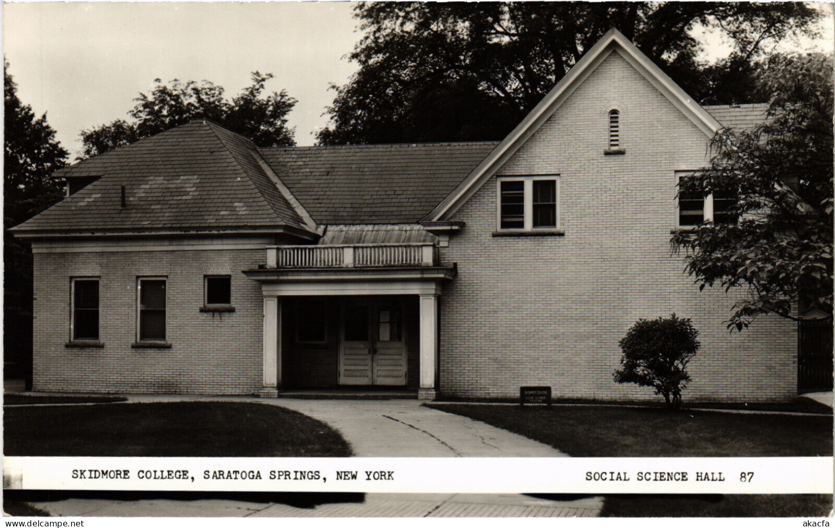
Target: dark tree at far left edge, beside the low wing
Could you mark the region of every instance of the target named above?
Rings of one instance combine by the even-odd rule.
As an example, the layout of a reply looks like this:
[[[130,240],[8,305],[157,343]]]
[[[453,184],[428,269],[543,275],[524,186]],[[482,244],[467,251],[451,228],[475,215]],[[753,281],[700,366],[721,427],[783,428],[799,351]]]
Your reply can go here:
[[[8,229],[61,200],[63,185],[51,177],[68,152],[55,140],[47,116],[36,117],[18,99],[18,85],[3,58],[3,348],[5,361],[28,376],[32,358],[32,248]]]

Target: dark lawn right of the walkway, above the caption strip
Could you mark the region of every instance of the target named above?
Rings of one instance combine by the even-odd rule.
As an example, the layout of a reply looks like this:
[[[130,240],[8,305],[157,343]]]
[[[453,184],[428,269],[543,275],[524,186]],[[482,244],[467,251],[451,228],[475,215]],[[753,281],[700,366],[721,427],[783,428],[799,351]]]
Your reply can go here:
[[[832,456],[832,416],[430,404],[570,456]]]

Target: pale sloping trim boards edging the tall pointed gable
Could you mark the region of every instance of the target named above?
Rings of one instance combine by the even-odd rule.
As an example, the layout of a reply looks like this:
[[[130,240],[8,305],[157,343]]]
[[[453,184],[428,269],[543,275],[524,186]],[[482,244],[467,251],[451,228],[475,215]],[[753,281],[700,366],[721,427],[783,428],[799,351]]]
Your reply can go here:
[[[693,124],[701,129],[708,137],[721,129],[716,119],[696,103],[681,87],[653,63],[640,49],[635,47],[628,38],[617,29],[610,29],[592,46],[574,67],[560,79],[554,89],[545,95],[533,110],[502,140],[493,152],[488,155],[467,178],[465,178],[433,211],[423,218],[423,221],[443,221],[458,211],[476,190],[493,175],[519,147],[524,145],[531,135],[549,119],[559,106],[568,99],[574,89],[583,83],[589,75],[609,57],[615,49],[625,58],[626,62],[635,68],[655,86],[677,109],[681,110]]]

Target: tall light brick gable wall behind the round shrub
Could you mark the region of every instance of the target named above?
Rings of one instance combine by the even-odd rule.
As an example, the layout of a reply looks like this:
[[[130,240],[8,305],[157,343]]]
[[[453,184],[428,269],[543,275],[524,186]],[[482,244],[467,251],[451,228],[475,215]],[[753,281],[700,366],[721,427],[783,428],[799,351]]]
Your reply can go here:
[[[625,155],[603,155],[611,108]],[[617,343],[639,317],[676,312],[701,339],[684,399],[795,395],[795,324],[764,317],[729,333],[735,297],[699,292],[671,256],[674,172],[702,165],[707,139],[620,55],[607,58],[498,172],[559,174],[565,236],[491,236],[495,178],[454,215],[466,226],[443,249],[458,277],[442,296],[442,393],[514,397],[541,384],[561,398],[659,399],[612,381]]]

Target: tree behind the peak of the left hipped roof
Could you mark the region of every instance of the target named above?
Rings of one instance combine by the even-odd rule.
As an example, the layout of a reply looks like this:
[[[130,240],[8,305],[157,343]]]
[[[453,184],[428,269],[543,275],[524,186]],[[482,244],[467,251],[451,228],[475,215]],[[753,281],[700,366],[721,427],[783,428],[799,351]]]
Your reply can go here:
[[[82,130],[84,157],[103,154],[129,145],[149,135],[159,134],[191,119],[210,119],[250,138],[261,147],[296,145],[294,130],[287,127],[287,114],[296,99],[286,90],[264,96],[264,85],[272,74],[253,72],[252,84],[231,101],[224,99],[224,89],[210,81],[180,82],[170,86],[154,79],[150,95],[139,94],[128,114],[133,119],[116,119],[110,124]]]

